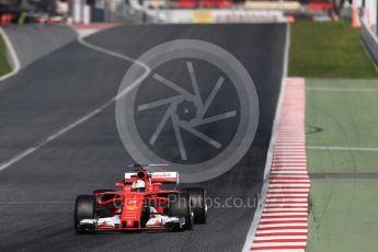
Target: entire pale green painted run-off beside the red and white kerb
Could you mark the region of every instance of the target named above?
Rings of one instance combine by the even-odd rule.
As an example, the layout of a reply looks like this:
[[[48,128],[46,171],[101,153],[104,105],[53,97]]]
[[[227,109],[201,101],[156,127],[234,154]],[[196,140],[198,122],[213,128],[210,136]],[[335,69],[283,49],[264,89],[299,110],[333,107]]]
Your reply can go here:
[[[308,79],[307,88],[371,88],[378,80]],[[378,92],[307,91],[307,145],[378,148]],[[378,152],[308,150],[310,173],[356,179],[311,179],[307,252],[377,251]]]

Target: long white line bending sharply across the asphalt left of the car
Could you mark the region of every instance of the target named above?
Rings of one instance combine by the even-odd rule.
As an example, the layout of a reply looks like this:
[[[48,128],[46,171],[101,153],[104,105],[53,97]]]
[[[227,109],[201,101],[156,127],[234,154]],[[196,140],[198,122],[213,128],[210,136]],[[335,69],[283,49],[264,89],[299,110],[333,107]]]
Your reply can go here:
[[[130,85],[128,85],[123,92],[118,93],[116,96],[112,98],[111,100],[108,100],[107,102],[105,102],[104,104],[102,104],[101,106],[94,108],[93,111],[91,111],[90,113],[88,113],[87,115],[80,117],[79,119],[75,121],[73,123],[62,127],[61,129],[58,129],[56,133],[45,137],[44,139],[42,139],[39,142],[37,142],[34,146],[28,147],[27,149],[19,152],[18,154],[13,156],[11,159],[9,159],[5,162],[0,163],[0,171],[11,167],[12,164],[21,161],[22,159],[26,158],[27,156],[32,154],[33,152],[37,151],[38,149],[41,149],[42,147],[44,147],[45,145],[47,145],[48,142],[57,139],[58,137],[65,135],[66,133],[68,133],[69,130],[78,127],[79,125],[85,123],[87,121],[91,119],[92,117],[94,117],[95,115],[100,114],[101,112],[103,112],[104,110],[106,110],[107,107],[110,107],[111,105],[113,105],[118,99],[121,99],[123,95],[125,95],[126,93],[128,93],[131,89],[134,89],[135,87],[137,87],[137,84],[139,84],[140,81],[142,81],[149,73],[150,73],[150,68],[148,66],[146,66],[144,62],[137,61],[134,58],[130,58],[128,56],[125,55],[121,55],[118,53],[92,45],[85,41],[82,39],[82,37],[80,37],[78,35],[78,42],[85,46],[89,47],[93,50],[98,50],[101,51],[103,54],[107,54],[111,56],[114,56],[116,58],[133,62],[133,64],[137,64],[140,67],[146,69],[146,72],[140,76],[137,80],[135,80]]]

